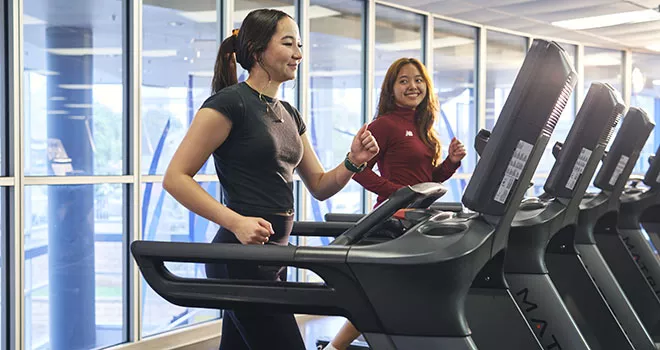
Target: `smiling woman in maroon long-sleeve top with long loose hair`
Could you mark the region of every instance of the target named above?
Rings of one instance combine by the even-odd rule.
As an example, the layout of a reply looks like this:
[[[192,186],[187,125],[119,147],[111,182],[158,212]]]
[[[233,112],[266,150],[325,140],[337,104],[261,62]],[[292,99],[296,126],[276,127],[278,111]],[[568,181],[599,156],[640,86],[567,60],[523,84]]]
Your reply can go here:
[[[379,206],[404,186],[444,182],[465,157],[465,147],[456,138],[448,156],[440,162],[440,140],[433,129],[440,106],[424,65],[415,58],[396,60],[385,74],[378,101],[378,114],[368,130],[380,146],[366,169],[353,177],[376,193]],[[378,164],[380,176],[371,169]],[[346,322],[326,350],[346,349],[360,335]]]

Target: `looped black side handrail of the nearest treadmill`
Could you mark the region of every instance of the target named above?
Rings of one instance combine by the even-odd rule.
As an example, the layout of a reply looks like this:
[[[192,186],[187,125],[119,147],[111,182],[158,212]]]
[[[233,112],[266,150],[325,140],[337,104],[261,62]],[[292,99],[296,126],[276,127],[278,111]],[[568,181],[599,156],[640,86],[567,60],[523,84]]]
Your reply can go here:
[[[355,288],[359,284],[345,265],[348,247],[305,247],[306,250],[318,250],[314,258],[307,261],[295,259],[297,249],[295,246],[158,241],[135,241],[131,244],[131,252],[145,280],[160,296],[176,305],[231,309],[287,305],[287,310],[293,312],[326,315],[347,315],[349,308],[370,308],[369,302]],[[313,271],[326,283],[187,278],[172,274],[165,266],[166,261],[295,266]],[[333,288],[339,281],[344,281],[344,288],[353,286],[354,290]],[[376,322],[371,314],[361,312],[358,317]]]

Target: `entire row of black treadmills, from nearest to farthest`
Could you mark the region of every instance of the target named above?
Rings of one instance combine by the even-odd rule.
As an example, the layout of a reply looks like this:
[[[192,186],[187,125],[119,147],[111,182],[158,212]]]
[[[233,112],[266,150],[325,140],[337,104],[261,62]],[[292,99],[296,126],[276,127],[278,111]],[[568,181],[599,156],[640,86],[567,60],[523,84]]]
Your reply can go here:
[[[558,44],[534,40],[497,123],[475,140],[457,210],[436,203],[446,187],[422,183],[357,221],[294,226],[336,237],[328,246],[136,241],[131,251],[174,304],[344,316],[374,350],[656,349],[660,157],[631,177],[655,126],[646,113],[593,83],[554,146],[544,194],[525,197],[576,81]],[[324,283],[191,279],[165,262],[295,266]]]

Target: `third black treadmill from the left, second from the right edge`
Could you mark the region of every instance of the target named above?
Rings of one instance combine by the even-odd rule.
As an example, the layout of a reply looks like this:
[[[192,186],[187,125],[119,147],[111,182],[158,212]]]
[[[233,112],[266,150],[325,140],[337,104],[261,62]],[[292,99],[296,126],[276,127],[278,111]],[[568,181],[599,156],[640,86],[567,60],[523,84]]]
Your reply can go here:
[[[546,249],[550,278],[594,350],[654,349],[595,237],[602,225],[616,218],[621,191],[652,129],[640,110],[628,110],[594,180],[601,191],[584,195],[577,224],[557,232]]]

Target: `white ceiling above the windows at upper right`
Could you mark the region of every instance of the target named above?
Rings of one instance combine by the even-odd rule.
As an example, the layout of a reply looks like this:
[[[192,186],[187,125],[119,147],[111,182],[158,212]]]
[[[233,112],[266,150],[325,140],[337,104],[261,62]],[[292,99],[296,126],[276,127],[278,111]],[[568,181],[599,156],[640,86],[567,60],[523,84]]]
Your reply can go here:
[[[397,0],[397,4],[476,24],[538,37],[597,46],[648,51],[658,45],[660,19],[587,30],[568,30],[553,22],[655,9],[660,0]]]

